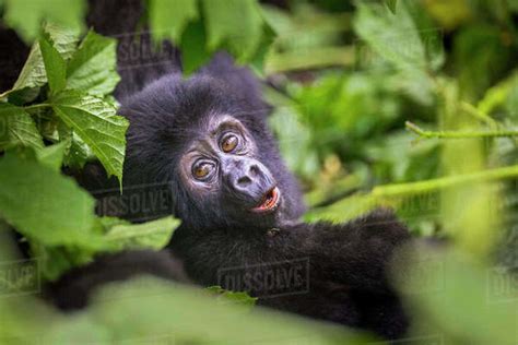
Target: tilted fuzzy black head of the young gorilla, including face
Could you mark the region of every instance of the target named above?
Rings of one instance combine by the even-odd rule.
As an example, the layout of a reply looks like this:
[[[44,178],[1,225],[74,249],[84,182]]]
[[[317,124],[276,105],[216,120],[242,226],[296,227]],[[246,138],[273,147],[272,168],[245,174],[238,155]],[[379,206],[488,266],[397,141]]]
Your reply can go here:
[[[125,185],[170,182],[184,226],[264,228],[303,213],[267,109],[246,90],[209,73],[167,75],[119,112],[130,121]]]

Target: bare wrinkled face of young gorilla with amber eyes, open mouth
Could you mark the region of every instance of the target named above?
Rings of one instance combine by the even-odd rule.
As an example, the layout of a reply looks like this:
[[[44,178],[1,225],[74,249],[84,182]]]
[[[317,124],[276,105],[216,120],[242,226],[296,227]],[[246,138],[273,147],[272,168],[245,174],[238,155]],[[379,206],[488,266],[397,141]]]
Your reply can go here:
[[[252,135],[229,115],[209,118],[179,159],[178,179],[188,202],[212,210],[221,217],[214,223],[274,225],[283,204],[282,186],[261,163]]]

